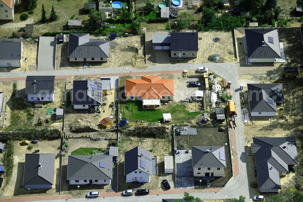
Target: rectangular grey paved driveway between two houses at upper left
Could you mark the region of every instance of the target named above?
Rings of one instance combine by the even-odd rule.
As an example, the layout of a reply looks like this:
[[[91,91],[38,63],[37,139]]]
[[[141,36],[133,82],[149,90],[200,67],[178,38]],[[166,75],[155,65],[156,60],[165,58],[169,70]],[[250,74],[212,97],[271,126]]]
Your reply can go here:
[[[55,70],[56,38],[53,36],[40,36],[37,71]]]

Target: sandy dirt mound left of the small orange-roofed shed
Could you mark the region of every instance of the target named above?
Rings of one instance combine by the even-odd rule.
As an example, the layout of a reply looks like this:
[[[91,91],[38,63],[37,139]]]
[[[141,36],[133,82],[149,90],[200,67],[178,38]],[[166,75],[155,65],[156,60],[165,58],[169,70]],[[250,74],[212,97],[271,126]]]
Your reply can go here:
[[[69,132],[95,132],[100,131],[99,127],[87,119],[78,119],[69,124]]]

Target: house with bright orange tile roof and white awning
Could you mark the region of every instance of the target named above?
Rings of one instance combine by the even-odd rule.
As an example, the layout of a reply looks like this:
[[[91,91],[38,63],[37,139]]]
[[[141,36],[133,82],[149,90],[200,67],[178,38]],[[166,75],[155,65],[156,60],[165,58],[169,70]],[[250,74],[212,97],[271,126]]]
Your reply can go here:
[[[161,76],[125,79],[126,99],[142,101],[145,109],[154,109],[160,106],[160,101],[173,100],[174,96],[174,79],[161,79]]]

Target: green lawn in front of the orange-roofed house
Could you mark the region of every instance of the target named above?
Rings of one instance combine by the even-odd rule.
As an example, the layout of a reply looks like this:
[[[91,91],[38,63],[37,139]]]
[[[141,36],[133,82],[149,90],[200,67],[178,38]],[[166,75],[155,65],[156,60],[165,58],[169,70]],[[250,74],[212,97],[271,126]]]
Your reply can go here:
[[[171,113],[172,122],[187,121],[196,118],[201,113],[188,113],[183,104],[168,104],[161,105],[160,109],[143,109],[142,102],[128,102],[131,106],[129,110],[126,110],[126,103],[120,104],[120,113],[122,117],[128,121],[145,120],[148,122],[158,122],[163,113]]]

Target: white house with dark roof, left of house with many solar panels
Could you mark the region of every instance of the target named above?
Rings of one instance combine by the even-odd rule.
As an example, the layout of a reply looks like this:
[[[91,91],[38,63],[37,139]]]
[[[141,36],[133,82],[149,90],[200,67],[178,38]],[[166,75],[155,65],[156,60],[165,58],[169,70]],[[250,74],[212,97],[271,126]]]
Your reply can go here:
[[[52,102],[55,95],[55,76],[27,76],[25,95],[28,102]]]

